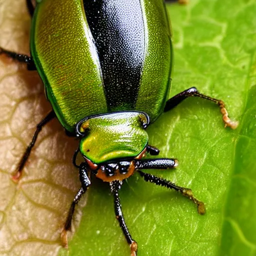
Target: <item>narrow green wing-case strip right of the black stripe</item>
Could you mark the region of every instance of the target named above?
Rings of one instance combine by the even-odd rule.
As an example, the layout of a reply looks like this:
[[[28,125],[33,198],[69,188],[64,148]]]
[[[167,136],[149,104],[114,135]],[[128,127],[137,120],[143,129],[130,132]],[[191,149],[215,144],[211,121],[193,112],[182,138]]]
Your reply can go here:
[[[135,109],[147,113],[153,122],[163,111],[170,90],[172,44],[162,0],[143,0],[145,59]]]

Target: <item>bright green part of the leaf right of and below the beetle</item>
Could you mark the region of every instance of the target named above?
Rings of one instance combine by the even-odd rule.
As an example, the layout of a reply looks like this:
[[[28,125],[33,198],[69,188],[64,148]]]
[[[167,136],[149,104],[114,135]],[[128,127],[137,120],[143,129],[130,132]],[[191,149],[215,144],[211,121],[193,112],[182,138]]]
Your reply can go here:
[[[205,202],[198,215],[187,198],[130,177],[120,191],[138,255],[255,255],[256,251],[256,3],[191,1],[168,5],[174,43],[171,96],[190,86],[222,99],[236,130],[224,128],[212,102],[189,98],[148,129],[175,170],[147,172],[192,188]],[[95,179],[69,254],[129,255],[108,184]]]

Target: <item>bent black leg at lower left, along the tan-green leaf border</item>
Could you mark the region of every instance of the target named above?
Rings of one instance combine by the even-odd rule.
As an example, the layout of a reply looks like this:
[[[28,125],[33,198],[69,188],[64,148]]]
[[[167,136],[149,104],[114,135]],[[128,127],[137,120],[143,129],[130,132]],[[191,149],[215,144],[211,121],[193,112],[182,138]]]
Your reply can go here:
[[[85,163],[82,163],[79,166],[79,178],[80,178],[82,187],[76,193],[76,195],[70,205],[70,208],[68,210],[67,217],[65,220],[64,227],[60,234],[62,245],[63,245],[63,247],[66,247],[66,248],[67,248],[67,231],[69,231],[71,229],[71,223],[72,223],[72,217],[74,214],[75,204],[77,204],[79,202],[82,195],[86,192],[88,186],[90,185],[90,180],[89,180],[88,173],[87,173],[87,165]]]

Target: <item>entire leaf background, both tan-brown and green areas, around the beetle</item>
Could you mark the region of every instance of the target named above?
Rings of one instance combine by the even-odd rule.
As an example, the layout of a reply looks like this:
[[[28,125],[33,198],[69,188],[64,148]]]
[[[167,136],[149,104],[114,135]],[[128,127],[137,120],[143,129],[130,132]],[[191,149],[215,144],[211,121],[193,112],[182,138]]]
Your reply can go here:
[[[138,256],[255,255],[256,3],[191,0],[168,5],[168,12],[174,45],[170,96],[196,86],[222,99],[239,126],[224,129],[218,107],[199,98],[162,114],[148,128],[149,142],[160,157],[178,158],[179,166],[147,172],[192,188],[206,214],[134,174],[120,191],[125,221]],[[24,1],[0,0],[1,46],[28,53],[29,23]],[[59,232],[79,187],[71,164],[77,141],[51,121],[14,184],[9,174],[50,105],[36,72],[3,56],[0,98],[0,254],[129,255],[109,186],[95,178],[76,209],[69,250],[59,251]]]

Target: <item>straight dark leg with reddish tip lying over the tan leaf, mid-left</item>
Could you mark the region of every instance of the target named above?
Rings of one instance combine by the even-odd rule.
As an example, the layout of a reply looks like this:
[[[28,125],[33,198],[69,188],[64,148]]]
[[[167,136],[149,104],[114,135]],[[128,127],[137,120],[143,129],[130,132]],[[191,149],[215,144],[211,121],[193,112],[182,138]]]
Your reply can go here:
[[[32,137],[32,140],[31,142],[29,143],[29,145],[27,146],[25,152],[23,153],[18,165],[17,165],[17,168],[14,172],[14,174],[12,174],[12,180],[14,181],[18,181],[18,179],[20,178],[21,176],[21,173],[22,173],[22,169],[26,163],[26,160],[31,152],[31,149],[33,148],[34,146],[34,143],[36,141],[36,138],[39,134],[39,132],[41,131],[42,129],[42,126],[44,126],[47,122],[49,122],[52,118],[54,118],[56,115],[54,113],[53,110],[51,110],[37,125],[36,125],[36,129],[34,131],[34,135]]]

